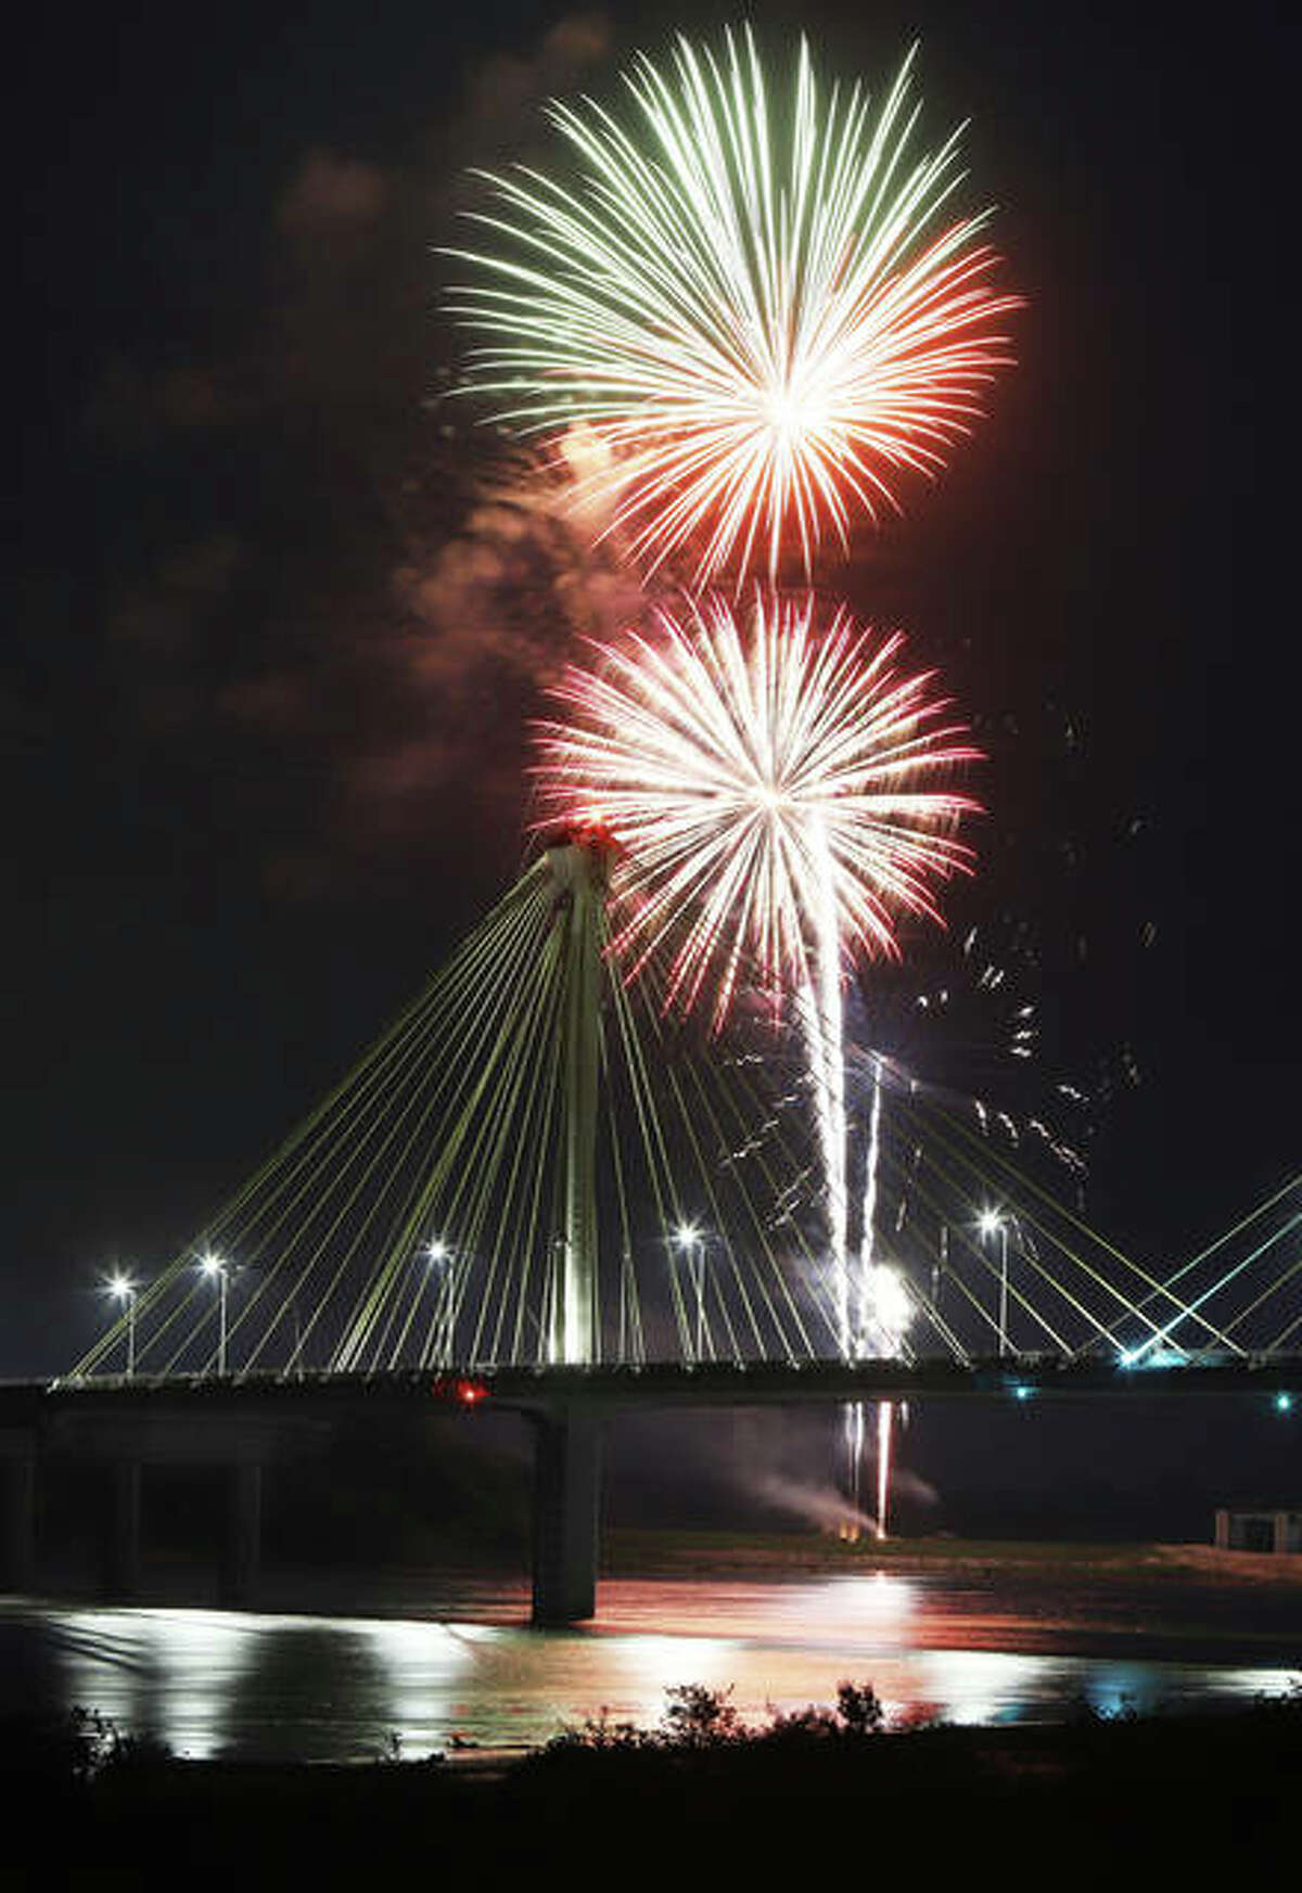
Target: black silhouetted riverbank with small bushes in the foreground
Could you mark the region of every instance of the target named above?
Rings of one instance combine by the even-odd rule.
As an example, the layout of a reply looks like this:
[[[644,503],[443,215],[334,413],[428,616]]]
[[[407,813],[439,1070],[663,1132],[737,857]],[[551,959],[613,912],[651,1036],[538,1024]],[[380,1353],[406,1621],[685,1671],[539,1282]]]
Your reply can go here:
[[[670,1690],[660,1725],[596,1719],[507,1766],[184,1762],[95,1715],[4,1730],[2,1887],[765,1885],[882,1872],[1130,1885],[1296,1866],[1302,1685],[1238,1715],[884,1732],[867,1685],[744,1728]],[[687,1876],[687,1878],[685,1878]]]

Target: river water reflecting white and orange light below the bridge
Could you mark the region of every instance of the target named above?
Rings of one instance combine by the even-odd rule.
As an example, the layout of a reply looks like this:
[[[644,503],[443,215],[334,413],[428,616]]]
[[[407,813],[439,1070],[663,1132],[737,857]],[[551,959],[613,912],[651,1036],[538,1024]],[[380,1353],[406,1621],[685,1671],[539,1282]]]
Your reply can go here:
[[[871,1681],[891,1723],[1060,1721],[1232,1706],[1285,1690],[1279,1656],[1179,1660],[1122,1626],[931,1577],[609,1581],[592,1628],[536,1632],[519,1590],[467,1584],[437,1617],[0,1605],[0,1713],[98,1709],[193,1759],[418,1759],[520,1749],[607,1709],[651,1725],[674,1685],[748,1719]],[[1177,1645],[1171,1645],[1177,1647]],[[1241,1653],[1240,1653],[1241,1654]]]

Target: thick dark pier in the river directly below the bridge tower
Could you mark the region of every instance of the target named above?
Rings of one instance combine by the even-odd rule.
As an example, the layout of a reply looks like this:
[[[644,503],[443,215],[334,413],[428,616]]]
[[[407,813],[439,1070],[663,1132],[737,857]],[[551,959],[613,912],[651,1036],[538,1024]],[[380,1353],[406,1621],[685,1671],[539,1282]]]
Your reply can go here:
[[[537,1418],[534,1444],[534,1622],[596,1615],[600,1420],[573,1406]]]

